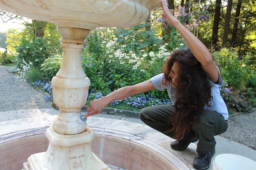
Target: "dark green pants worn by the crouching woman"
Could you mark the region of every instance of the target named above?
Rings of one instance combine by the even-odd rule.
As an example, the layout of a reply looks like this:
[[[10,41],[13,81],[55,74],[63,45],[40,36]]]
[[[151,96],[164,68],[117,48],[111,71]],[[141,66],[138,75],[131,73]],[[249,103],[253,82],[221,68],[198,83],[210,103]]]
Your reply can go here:
[[[173,105],[151,106],[143,108],[139,113],[139,117],[141,121],[151,128],[173,137],[173,132],[166,132],[173,127],[169,122],[173,111]],[[216,144],[214,136],[224,133],[227,128],[227,120],[224,120],[222,115],[211,110],[204,110],[196,124],[191,124],[191,130],[195,131],[198,138],[197,153],[207,154],[212,151]]]

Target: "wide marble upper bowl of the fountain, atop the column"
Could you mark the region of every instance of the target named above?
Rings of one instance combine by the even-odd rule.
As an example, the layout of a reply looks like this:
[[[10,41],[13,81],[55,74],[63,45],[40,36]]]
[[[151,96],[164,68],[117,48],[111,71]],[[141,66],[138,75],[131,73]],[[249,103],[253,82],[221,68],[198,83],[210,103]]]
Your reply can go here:
[[[161,0],[0,0],[2,10],[57,27],[131,27],[144,22]]]

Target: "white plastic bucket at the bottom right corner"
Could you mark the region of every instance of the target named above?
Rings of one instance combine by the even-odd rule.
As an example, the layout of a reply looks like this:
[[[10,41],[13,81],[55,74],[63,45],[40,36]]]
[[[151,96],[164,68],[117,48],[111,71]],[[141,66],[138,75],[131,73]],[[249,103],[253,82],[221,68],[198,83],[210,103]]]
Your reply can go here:
[[[235,154],[220,154],[213,161],[212,170],[256,170],[256,162]]]

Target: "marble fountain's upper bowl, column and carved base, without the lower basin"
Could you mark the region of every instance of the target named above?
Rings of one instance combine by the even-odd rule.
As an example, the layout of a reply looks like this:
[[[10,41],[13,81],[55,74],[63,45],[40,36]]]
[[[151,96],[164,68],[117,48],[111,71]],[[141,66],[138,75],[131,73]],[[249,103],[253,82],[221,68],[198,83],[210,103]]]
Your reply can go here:
[[[0,0],[1,10],[56,24],[63,62],[52,79],[59,115],[46,130],[46,152],[33,154],[25,170],[108,170],[91,151],[94,132],[80,123],[90,80],[81,64],[85,38],[95,27],[132,27],[144,22],[161,0]]]

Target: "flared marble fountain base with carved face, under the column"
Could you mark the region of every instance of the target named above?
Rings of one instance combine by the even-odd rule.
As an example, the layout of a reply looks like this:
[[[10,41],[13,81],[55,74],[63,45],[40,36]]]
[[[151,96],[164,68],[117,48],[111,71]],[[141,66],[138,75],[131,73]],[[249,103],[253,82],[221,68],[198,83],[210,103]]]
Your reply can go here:
[[[91,150],[95,132],[87,128],[75,135],[54,132],[50,126],[46,152],[33,154],[24,163],[24,170],[110,170]]]

